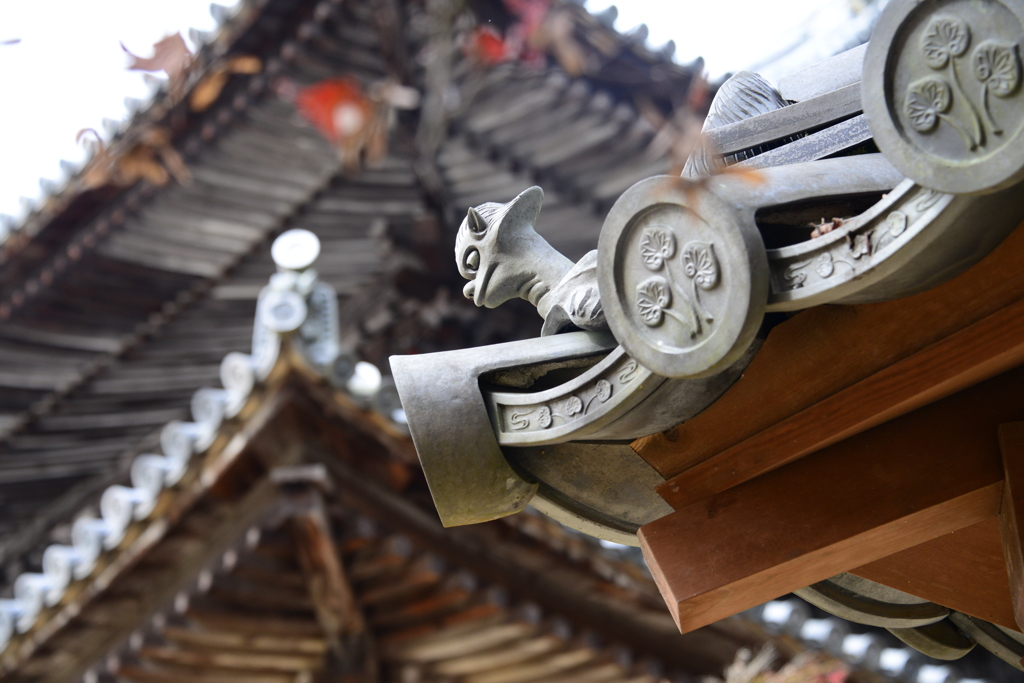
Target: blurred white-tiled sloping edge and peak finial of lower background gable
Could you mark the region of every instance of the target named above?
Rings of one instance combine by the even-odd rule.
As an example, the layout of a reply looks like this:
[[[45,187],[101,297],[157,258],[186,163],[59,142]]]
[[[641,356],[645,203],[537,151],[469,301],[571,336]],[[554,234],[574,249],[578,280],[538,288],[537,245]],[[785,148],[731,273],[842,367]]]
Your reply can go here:
[[[309,267],[318,253],[316,238],[290,230],[279,238],[274,254],[296,239],[299,251],[311,248],[312,257],[296,269],[279,262],[281,272],[257,304],[253,353],[228,353],[221,365],[224,388],[199,389],[194,421],[167,424],[162,454],[136,456],[130,485],[109,486],[99,498],[99,517],[78,517],[72,545],[47,547],[43,570],[18,575],[14,597],[0,600],[0,676],[32,657],[217,488],[253,437],[286,407],[295,377],[329,383],[332,404],[344,419],[366,425],[393,456],[415,459],[393,384],[341,349],[337,295]]]

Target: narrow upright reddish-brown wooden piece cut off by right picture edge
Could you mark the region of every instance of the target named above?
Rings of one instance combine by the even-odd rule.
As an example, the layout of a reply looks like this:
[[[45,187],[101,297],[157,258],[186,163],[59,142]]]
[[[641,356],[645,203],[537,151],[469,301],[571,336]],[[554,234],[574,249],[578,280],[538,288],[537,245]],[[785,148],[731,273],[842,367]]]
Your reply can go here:
[[[999,427],[999,447],[1002,451],[1004,487],[999,507],[999,535],[1010,574],[1017,630],[1024,629],[1024,553],[1021,532],[1024,531],[1024,422]]]

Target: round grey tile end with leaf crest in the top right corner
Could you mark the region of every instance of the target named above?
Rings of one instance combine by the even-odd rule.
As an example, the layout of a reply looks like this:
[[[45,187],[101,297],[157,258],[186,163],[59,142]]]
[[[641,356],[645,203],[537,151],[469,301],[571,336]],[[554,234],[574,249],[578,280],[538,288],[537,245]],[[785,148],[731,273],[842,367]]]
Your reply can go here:
[[[864,57],[864,114],[904,175],[974,194],[1024,178],[1022,0],[893,0]]]

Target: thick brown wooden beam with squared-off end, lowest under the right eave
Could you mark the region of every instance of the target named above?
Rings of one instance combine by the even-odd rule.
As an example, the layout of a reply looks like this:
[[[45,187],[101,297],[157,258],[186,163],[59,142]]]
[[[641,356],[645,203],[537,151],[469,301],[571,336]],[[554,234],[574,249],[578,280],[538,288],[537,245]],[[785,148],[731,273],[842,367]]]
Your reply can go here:
[[[993,519],[1022,383],[1010,371],[641,527],[680,629]]]

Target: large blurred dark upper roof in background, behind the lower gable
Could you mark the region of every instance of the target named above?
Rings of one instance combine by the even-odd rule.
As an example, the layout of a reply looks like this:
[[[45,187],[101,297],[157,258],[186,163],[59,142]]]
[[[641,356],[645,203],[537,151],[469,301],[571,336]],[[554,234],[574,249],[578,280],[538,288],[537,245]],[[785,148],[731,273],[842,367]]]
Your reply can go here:
[[[281,230],[306,227],[321,238],[319,269],[342,297],[346,339],[382,364],[417,345],[458,345],[421,333],[438,313],[473,314],[445,282],[444,238],[469,204],[543,179],[551,187],[547,232],[579,255],[596,242],[600,212],[617,193],[668,169],[665,154],[651,156],[653,127],[630,97],[667,106],[668,84],[684,87],[692,70],[567,5],[580,35],[610,56],[580,78],[557,66],[513,63],[471,75],[477,94],[451,121],[437,155],[443,187],[424,188],[409,140],[417,122],[406,115],[386,159],[346,173],[271,85],[339,74],[372,82],[392,68],[369,10],[319,7],[271,1],[218,10],[222,27],[200,36],[206,44],[187,85],[194,91],[225,55],[259,54],[263,73],[232,77],[200,113],[163,87],[121,126],[108,155],[95,156],[2,246],[0,547],[12,543],[4,529],[41,532],[46,510],[67,509],[60,492],[84,500],[95,489],[89,481],[117,477],[139,439],[180,417],[182,398],[216,377],[219,355],[249,334],[270,271],[268,240]],[[422,44],[422,17],[416,6],[404,11],[412,51]],[[190,180],[90,188],[97,165],[129,154],[153,130],[171,131]],[[430,321],[411,324],[410,310]],[[515,327],[506,323],[489,339],[510,338]],[[392,334],[396,345],[384,340]]]

